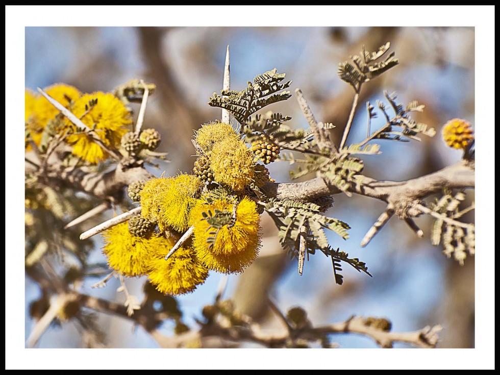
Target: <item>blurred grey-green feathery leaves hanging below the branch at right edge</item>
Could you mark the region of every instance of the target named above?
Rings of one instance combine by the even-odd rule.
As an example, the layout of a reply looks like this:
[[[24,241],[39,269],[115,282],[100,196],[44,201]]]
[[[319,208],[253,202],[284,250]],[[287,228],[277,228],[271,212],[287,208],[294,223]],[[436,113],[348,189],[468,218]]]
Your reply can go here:
[[[432,226],[431,242],[437,246],[441,242],[443,244],[443,253],[446,257],[451,258],[452,255],[460,265],[464,264],[467,254],[474,255],[476,247],[476,227],[474,224],[463,226],[453,221],[462,217],[466,212],[473,209],[473,205],[459,210],[459,206],[465,199],[463,191],[452,193],[444,191],[443,196],[436,199],[431,209],[440,214],[442,218],[436,218]],[[453,219],[451,222],[446,218]]]

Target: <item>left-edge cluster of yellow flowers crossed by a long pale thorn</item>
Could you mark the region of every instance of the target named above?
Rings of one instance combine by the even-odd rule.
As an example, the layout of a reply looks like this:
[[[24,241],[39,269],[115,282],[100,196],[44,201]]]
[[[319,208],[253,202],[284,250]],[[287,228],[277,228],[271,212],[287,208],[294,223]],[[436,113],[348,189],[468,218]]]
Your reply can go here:
[[[106,146],[119,147],[121,137],[128,131],[126,127],[132,123],[130,111],[111,93],[82,94],[77,88],[65,84],[55,84],[44,91],[80,118]],[[88,132],[63,119],[59,110],[45,97],[26,90],[24,99],[26,130],[37,146],[42,141],[44,129],[54,122],[58,133],[67,132],[65,141],[72,146],[73,155],[92,164],[108,158],[106,151]],[[28,142],[27,149],[31,149]]]

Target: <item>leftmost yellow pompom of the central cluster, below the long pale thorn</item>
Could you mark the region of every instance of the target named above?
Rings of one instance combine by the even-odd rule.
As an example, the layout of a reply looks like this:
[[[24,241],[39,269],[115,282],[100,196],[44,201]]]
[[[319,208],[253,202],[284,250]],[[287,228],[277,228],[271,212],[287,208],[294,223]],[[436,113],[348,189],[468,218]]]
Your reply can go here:
[[[152,235],[136,237],[129,232],[129,224],[123,222],[103,233],[103,253],[108,265],[123,276],[142,276],[147,273],[149,263],[158,252],[172,248],[173,238]]]

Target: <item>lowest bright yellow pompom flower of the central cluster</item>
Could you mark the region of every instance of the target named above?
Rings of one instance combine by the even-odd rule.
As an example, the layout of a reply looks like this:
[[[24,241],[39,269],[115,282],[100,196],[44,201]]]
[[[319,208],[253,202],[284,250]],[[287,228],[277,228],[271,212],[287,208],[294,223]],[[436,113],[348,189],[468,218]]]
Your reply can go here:
[[[163,294],[177,295],[192,292],[205,282],[208,268],[196,258],[190,247],[179,248],[165,260],[164,257],[170,248],[157,252],[157,256],[149,261],[149,281]]]

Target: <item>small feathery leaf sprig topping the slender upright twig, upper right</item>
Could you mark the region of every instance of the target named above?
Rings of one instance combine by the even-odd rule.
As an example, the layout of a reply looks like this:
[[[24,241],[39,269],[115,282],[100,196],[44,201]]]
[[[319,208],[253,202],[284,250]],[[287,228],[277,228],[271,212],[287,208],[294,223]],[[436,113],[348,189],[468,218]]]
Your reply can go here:
[[[379,77],[399,63],[394,52],[390,53],[384,60],[380,60],[389,51],[390,46],[391,43],[387,42],[379,47],[378,51],[371,53],[365,51],[363,46],[360,55],[351,56],[354,64],[348,61],[340,63],[337,74],[342,81],[347,82],[358,91],[363,83]]]

